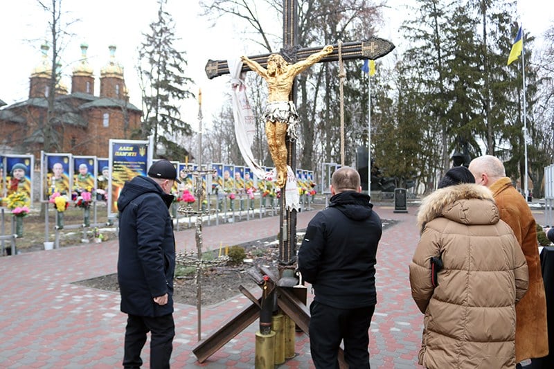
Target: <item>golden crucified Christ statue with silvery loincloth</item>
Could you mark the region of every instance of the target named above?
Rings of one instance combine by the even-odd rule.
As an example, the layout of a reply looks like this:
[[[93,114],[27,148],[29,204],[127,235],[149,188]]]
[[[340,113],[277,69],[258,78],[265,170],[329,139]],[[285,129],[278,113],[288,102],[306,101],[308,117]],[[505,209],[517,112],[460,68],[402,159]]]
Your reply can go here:
[[[267,69],[258,62],[242,56],[240,59],[250,69],[258,73],[267,82],[269,95],[267,96],[267,107],[265,108],[265,135],[271,159],[277,168],[277,186],[285,187],[287,182],[287,145],[285,137],[296,139],[296,123],[298,113],[294,102],[289,100],[294,78],[298,73],[319,62],[323,57],[333,51],[333,46],[325,46],[321,51],[313,53],[305,60],[289,64],[279,54],[271,54],[267,58]]]

